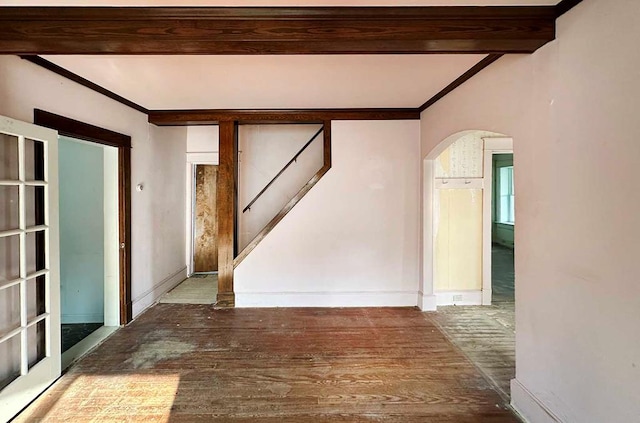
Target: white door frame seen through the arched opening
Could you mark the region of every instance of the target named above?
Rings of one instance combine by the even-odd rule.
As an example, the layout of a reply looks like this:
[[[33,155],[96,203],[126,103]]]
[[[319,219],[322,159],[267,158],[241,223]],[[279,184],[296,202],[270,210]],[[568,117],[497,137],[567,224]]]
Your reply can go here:
[[[486,137],[482,190],[482,305],[491,305],[491,243],[493,238],[493,155],[513,154],[513,138]]]

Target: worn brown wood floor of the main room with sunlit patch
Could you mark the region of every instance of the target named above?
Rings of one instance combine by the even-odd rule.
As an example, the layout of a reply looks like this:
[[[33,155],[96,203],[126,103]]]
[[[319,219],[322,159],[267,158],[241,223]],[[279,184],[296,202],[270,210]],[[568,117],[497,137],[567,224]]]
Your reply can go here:
[[[432,318],[158,304],[17,422],[517,422]]]

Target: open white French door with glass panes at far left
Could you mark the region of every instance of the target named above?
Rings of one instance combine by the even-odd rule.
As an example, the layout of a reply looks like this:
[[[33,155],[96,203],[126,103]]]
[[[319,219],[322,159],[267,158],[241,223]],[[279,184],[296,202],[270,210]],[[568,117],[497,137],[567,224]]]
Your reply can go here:
[[[0,116],[0,422],[60,376],[57,140]]]

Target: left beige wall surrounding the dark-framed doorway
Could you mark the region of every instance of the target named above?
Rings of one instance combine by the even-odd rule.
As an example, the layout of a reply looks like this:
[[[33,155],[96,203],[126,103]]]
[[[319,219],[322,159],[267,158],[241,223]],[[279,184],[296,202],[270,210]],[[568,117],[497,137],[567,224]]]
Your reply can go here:
[[[186,129],[149,125],[145,114],[17,56],[0,56],[0,74],[4,116],[33,122],[39,108],[132,137],[132,297],[138,314],[186,273]],[[137,184],[144,185],[142,192]]]

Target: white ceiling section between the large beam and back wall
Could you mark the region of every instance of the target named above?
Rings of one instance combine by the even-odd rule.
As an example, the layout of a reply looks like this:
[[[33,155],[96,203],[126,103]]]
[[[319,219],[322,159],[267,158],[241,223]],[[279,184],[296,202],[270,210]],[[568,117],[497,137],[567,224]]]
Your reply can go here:
[[[148,109],[417,107],[483,55],[43,56]]]

